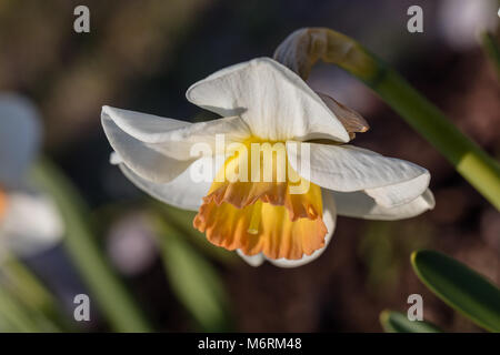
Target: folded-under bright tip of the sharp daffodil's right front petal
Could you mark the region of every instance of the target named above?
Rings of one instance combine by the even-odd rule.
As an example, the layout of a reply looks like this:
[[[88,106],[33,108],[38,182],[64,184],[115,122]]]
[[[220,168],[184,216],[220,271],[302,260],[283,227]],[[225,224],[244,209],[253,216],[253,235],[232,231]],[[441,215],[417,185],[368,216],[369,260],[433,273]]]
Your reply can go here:
[[[429,186],[430,174],[426,172],[412,180],[383,187],[368,189],[364,192],[383,207],[407,204],[420,196]]]

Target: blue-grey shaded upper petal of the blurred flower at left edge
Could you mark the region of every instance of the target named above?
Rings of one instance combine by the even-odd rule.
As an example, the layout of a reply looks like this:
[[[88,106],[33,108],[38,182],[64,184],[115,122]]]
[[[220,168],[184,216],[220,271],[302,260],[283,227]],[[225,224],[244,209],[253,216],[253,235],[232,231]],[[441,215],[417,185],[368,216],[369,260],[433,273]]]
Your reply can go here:
[[[16,94],[0,94],[0,185],[18,187],[40,144],[34,106]]]

